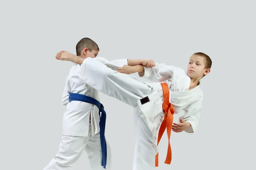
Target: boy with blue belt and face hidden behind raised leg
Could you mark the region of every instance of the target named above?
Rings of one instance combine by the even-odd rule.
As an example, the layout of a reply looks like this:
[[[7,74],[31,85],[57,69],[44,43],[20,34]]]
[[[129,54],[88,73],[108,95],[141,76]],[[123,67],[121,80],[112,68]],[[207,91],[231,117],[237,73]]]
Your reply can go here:
[[[82,58],[95,58],[99,47],[90,38],[83,38],[77,43],[76,52]],[[127,59],[101,62],[117,70],[118,66],[127,64]],[[81,65],[76,64],[67,76],[62,96],[62,104],[67,106],[63,116],[62,139],[58,153],[44,170],[70,170],[84,150],[92,170],[106,167],[111,170],[111,150],[104,135],[104,107],[99,102],[99,92],[83,82],[80,72]]]

